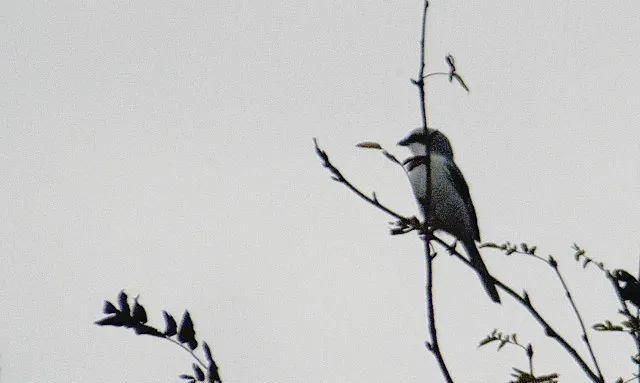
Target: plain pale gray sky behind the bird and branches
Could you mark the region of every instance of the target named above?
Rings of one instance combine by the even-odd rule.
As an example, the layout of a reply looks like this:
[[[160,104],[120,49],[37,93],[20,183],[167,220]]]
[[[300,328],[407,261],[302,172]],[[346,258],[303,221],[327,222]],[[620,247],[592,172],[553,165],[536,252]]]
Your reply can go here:
[[[424,382],[424,270],[413,235],[332,182],[311,138],[364,190],[405,214],[399,169],[354,144],[419,125],[421,1],[6,1],[0,4],[2,382],[173,382],[177,347],[92,323],[141,294],[152,322],[188,308],[225,382]],[[431,70],[456,57],[472,91],[429,87],[483,239],[553,253],[588,323],[617,306],[578,242],[611,267],[640,254],[640,5],[432,1]],[[581,354],[541,264],[484,251]],[[477,349],[493,328],[536,349],[537,371],[584,381],[503,295],[443,254],[441,343],[460,382],[508,380],[517,350]],[[461,295],[462,294],[462,295]],[[455,299],[454,299],[455,297]],[[608,378],[631,343],[593,334]],[[184,354],[184,355],[183,355]]]

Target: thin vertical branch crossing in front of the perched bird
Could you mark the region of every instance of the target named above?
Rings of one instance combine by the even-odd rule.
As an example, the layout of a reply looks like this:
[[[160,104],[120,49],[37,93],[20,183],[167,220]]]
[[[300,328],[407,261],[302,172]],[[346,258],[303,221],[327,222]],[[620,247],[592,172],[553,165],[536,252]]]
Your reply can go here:
[[[453,383],[453,379],[451,378],[451,374],[447,368],[446,363],[444,362],[444,358],[442,356],[442,352],[440,351],[440,346],[438,344],[438,333],[436,330],[436,321],[435,321],[435,308],[433,304],[433,257],[431,256],[431,232],[429,231],[429,212],[431,211],[431,150],[430,150],[430,141],[431,137],[429,135],[428,127],[427,127],[427,107],[426,107],[426,91],[425,91],[425,82],[424,82],[424,71],[425,71],[425,31],[427,26],[427,9],[429,8],[429,1],[425,0],[424,8],[422,11],[422,29],[420,32],[420,69],[418,71],[418,78],[412,80],[412,83],[418,87],[418,92],[420,95],[420,114],[422,117],[422,128],[424,129],[425,136],[425,182],[426,182],[426,193],[425,200],[422,201],[422,215],[424,216],[424,224],[422,230],[422,240],[424,242],[424,258],[425,258],[425,294],[427,300],[427,322],[429,328],[429,334],[431,340],[426,343],[429,351],[433,353],[436,360],[438,361],[438,365],[444,378],[447,383]]]

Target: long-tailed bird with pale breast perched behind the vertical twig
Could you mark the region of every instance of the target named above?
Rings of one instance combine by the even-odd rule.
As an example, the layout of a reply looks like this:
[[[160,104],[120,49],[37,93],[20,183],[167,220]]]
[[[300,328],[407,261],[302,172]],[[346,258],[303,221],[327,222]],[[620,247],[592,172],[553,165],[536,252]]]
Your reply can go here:
[[[475,241],[480,241],[480,230],[469,186],[453,160],[449,139],[439,130],[423,128],[412,130],[398,145],[408,147],[414,157],[404,161],[413,193],[424,212],[426,196],[426,147],[429,141],[431,199],[428,212],[429,226],[442,230],[460,241],[471,266],[482,281],[484,289],[496,303],[501,303],[493,277],[485,265]]]

